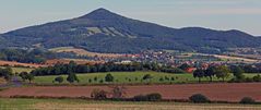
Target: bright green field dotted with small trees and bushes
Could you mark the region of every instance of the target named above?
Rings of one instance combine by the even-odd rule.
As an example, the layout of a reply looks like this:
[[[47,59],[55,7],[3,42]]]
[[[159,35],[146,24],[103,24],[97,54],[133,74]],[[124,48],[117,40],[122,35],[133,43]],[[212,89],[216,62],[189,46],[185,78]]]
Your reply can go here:
[[[192,74],[169,74],[162,72],[108,72],[114,76],[114,84],[145,84],[145,83],[156,83],[156,84],[171,84],[171,83],[198,83],[198,78],[194,78]],[[78,74],[80,84],[106,84],[105,76],[108,73],[87,73]],[[151,74],[151,80],[142,80],[145,74]],[[248,77],[252,77],[256,74],[246,74]],[[62,84],[68,84],[66,82],[67,75],[60,75],[63,77],[64,82]],[[34,82],[37,84],[52,84],[52,81],[57,76],[36,76]],[[97,80],[95,80],[97,77]],[[226,81],[230,80],[230,75]],[[202,78],[202,82],[207,82],[209,78]],[[216,77],[213,78],[214,82],[221,81]]]

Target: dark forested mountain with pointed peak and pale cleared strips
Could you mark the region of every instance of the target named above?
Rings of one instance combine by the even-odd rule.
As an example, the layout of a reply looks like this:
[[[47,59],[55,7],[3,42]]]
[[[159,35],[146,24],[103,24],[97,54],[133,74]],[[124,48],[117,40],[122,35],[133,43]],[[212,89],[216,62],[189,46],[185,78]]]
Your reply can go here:
[[[73,46],[88,51],[116,53],[146,49],[212,53],[227,48],[261,47],[261,38],[240,30],[170,28],[128,19],[105,9],[72,20],[9,32],[0,37],[0,42],[1,48]]]

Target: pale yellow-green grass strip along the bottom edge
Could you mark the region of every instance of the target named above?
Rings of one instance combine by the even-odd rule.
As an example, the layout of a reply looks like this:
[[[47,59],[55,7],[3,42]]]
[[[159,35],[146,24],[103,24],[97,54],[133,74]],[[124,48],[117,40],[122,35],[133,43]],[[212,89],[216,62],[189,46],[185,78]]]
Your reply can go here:
[[[259,110],[260,105],[0,98],[0,110]]]

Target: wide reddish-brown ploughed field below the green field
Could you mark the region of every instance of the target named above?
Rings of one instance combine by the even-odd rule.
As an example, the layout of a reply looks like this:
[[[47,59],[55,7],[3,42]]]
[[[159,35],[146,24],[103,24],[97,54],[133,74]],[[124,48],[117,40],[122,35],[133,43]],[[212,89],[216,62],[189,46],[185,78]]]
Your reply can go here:
[[[252,97],[261,101],[261,83],[140,85],[126,87],[127,97],[129,98],[141,94],[159,93],[164,99],[188,99],[193,94],[203,94],[212,101],[238,102],[242,97]],[[110,89],[108,86],[19,87],[0,91],[0,96],[90,97],[94,88]]]

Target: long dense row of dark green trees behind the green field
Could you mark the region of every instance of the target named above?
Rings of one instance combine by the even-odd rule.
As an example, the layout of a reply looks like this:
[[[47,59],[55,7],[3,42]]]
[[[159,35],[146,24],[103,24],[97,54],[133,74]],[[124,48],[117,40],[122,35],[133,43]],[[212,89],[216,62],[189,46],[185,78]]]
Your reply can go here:
[[[159,71],[167,73],[185,73],[180,69],[170,68],[170,66],[159,66],[156,63],[132,63],[132,64],[115,64],[115,63],[105,63],[105,64],[76,64],[71,61],[69,64],[56,64],[55,66],[39,68],[32,71],[32,74],[36,76],[43,75],[61,75],[70,73],[96,73],[96,72],[133,72],[133,71]]]

